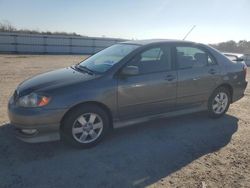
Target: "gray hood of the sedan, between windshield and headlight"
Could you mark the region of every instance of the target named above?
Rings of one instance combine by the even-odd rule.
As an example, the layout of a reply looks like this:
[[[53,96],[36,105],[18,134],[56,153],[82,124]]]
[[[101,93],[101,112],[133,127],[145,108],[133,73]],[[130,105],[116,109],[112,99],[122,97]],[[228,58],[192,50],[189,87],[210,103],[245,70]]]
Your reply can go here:
[[[96,77],[96,75],[78,72],[72,67],[67,67],[27,79],[18,86],[17,91],[20,96],[23,96],[34,91],[43,91],[53,87],[63,87],[70,84],[92,80]]]

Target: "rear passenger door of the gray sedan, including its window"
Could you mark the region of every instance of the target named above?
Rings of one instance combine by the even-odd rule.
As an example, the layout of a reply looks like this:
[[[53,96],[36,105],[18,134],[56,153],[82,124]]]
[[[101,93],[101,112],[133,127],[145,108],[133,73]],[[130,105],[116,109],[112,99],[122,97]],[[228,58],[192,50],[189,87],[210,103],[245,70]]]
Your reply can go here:
[[[220,79],[220,67],[206,49],[177,45],[177,107],[192,107],[208,100]]]

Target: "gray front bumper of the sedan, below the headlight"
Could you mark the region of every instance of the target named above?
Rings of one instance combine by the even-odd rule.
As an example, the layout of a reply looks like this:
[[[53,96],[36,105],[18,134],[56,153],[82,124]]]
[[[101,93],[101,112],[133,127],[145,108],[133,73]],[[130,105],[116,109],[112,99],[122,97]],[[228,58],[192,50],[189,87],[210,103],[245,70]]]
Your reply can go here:
[[[29,143],[48,142],[60,139],[60,121],[66,109],[22,108],[8,104],[10,123],[15,127],[16,137]],[[26,134],[22,130],[36,130]]]

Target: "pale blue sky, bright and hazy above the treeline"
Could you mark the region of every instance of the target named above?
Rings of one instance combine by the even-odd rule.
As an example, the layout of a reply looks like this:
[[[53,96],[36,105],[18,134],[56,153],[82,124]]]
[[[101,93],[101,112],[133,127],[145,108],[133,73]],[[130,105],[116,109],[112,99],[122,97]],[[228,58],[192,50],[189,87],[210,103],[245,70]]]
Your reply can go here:
[[[0,0],[19,29],[127,39],[250,40],[250,0]]]

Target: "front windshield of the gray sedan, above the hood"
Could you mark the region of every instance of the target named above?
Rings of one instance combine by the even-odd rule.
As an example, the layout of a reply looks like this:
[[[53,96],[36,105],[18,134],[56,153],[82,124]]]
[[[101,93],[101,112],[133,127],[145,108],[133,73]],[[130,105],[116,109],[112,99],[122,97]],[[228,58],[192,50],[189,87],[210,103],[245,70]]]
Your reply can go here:
[[[138,47],[133,44],[115,44],[82,61],[79,67],[104,73]]]

